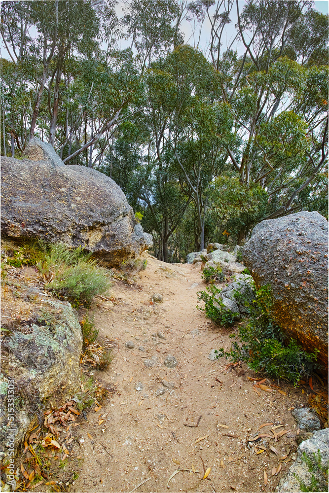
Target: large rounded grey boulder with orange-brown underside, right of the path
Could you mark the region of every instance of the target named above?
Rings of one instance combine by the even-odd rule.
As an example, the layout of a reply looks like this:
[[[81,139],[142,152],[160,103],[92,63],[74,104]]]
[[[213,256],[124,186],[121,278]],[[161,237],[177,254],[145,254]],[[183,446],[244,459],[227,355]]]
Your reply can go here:
[[[273,315],[287,338],[318,349],[328,367],[328,221],[305,211],[262,221],[243,259],[256,287],[271,286]]]

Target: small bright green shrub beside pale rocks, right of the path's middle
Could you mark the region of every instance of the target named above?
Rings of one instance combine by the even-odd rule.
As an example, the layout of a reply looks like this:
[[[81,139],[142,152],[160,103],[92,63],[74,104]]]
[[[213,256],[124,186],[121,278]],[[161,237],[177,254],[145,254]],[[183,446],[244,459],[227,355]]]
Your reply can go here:
[[[239,314],[231,312],[228,310],[220,298],[217,295],[220,293],[221,289],[217,288],[215,285],[211,285],[207,288],[207,291],[201,291],[198,293],[198,300],[202,300],[205,303],[204,308],[197,306],[198,310],[204,310],[206,317],[213,320],[218,325],[224,325],[229,327],[234,323],[236,317]]]

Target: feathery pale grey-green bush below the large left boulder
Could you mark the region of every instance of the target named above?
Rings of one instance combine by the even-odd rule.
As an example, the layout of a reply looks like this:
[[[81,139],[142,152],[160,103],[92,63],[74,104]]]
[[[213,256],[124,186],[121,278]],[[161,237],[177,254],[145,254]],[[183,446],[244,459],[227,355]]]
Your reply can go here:
[[[106,271],[97,267],[90,256],[81,247],[48,246],[43,262],[38,265],[47,280],[46,288],[57,296],[64,296],[73,306],[90,306],[94,296],[105,293],[110,287]]]

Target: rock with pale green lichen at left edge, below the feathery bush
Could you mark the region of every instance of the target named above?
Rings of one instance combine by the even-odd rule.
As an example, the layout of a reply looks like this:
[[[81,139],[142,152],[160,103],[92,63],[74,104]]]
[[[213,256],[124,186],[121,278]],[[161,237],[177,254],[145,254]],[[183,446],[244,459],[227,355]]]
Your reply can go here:
[[[37,289],[34,291],[37,296]],[[10,445],[9,429],[15,430],[17,450],[26,432],[37,420],[42,422],[45,407],[61,407],[80,388],[82,334],[70,303],[44,300],[35,318],[37,323],[28,334],[13,330],[1,345],[0,447],[4,454]],[[8,423],[6,412],[8,385],[14,387],[12,423]]]

